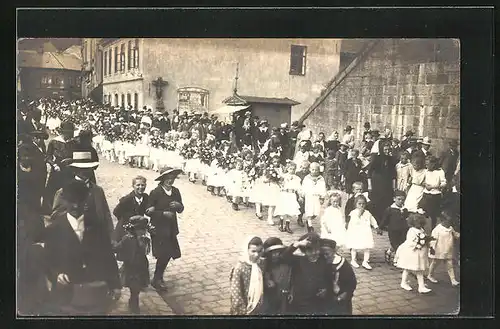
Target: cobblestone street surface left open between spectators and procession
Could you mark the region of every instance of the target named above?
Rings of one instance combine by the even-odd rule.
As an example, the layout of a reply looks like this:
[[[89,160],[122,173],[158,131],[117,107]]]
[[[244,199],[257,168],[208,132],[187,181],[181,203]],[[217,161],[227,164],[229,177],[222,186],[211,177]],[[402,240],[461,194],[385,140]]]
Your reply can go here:
[[[118,199],[131,191],[131,180],[136,175],[148,179],[149,192],[156,186],[157,173],[151,170],[130,168],[101,160],[97,169],[97,181],[106,192],[111,210]],[[185,205],[179,216],[179,244],[182,257],[172,261],[165,273],[168,291],[161,296],[148,288],[141,294],[141,313],[147,315],[227,315],[229,312],[229,272],[242,249],[242,241],[248,235],[263,240],[277,236],[285,244],[293,242],[306,232],[292,223],[294,234],[279,232],[254,215],[254,209],[241,207],[233,211],[225,198],[211,196],[201,183],[190,183],[179,176],[175,186],[181,191]],[[266,213],[264,211],[264,218]],[[318,223],[315,228],[319,229]],[[358,287],[353,308],[355,315],[431,315],[456,314],[459,311],[459,288],[453,288],[444,265],[437,271],[439,284],[428,283],[433,292],[419,295],[399,287],[401,271],[384,262],[384,251],[389,246],[387,234],[375,236],[372,250],[372,271],[355,269]],[[350,259],[348,253],[343,253]],[[359,255],[358,257],[362,257]],[[154,259],[150,260],[150,272]],[[459,268],[456,270],[460,278]],[[416,290],[416,280],[411,278]],[[110,315],[128,314],[128,292]]]

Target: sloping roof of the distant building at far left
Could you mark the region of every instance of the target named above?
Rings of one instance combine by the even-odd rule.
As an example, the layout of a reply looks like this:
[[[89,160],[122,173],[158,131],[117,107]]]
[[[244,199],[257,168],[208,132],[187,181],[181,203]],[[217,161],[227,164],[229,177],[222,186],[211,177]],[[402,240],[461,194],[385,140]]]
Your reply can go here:
[[[40,53],[34,50],[21,50],[18,54],[19,67],[36,67],[44,69],[61,69],[80,71],[81,59],[74,55],[57,52]]]

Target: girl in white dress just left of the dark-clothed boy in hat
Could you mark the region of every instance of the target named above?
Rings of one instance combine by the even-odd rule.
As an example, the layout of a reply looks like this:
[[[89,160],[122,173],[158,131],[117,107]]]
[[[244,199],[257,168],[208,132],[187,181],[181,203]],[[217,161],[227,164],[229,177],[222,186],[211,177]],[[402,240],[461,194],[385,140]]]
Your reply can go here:
[[[351,249],[351,265],[358,268],[356,261],[357,252],[363,250],[363,266],[367,270],[372,267],[368,263],[370,261],[370,250],[374,247],[372,227],[377,230],[378,234],[382,231],[379,229],[377,221],[373,215],[366,210],[366,198],[364,195],[358,195],[354,199],[356,208],[349,214],[349,224],[346,231],[346,247]]]

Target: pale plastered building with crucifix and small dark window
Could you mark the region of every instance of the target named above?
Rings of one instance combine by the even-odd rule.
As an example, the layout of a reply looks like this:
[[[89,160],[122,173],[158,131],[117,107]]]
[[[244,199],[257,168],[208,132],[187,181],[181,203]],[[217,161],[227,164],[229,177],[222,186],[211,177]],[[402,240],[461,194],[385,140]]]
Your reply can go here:
[[[340,40],[124,38],[100,46],[105,103],[212,112],[238,74],[241,94],[299,102],[293,119],[337,74]]]

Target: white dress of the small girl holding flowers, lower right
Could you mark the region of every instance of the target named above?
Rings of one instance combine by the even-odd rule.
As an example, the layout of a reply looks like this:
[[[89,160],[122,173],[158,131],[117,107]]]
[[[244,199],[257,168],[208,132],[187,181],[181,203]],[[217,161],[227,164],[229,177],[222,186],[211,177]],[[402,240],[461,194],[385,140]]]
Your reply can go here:
[[[424,229],[410,227],[406,233],[406,240],[396,250],[394,263],[397,267],[411,271],[425,271],[429,267],[427,247],[417,248],[417,235],[424,234]]]

